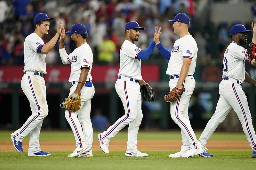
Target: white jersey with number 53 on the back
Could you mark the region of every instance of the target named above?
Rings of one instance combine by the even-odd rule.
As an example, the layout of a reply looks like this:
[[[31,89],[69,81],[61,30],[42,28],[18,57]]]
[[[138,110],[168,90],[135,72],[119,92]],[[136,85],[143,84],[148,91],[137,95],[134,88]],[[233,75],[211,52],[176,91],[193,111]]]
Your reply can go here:
[[[230,43],[223,57],[222,78],[230,77],[236,80],[244,81],[245,60],[248,60],[246,50],[242,46],[237,45],[235,42]]]

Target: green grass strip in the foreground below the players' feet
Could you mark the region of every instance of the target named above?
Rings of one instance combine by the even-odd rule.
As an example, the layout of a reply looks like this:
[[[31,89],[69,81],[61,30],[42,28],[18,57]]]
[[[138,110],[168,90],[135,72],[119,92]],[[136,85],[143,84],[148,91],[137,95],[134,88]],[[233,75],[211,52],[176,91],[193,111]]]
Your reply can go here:
[[[52,151],[51,157],[28,157],[28,152],[0,152],[0,169],[90,169],[90,170],[165,170],[165,169],[253,169],[256,159],[249,150],[214,150],[214,157],[169,158],[176,151],[144,151],[148,157],[125,157],[123,151],[108,155],[94,151],[93,158],[68,158],[69,152]]]

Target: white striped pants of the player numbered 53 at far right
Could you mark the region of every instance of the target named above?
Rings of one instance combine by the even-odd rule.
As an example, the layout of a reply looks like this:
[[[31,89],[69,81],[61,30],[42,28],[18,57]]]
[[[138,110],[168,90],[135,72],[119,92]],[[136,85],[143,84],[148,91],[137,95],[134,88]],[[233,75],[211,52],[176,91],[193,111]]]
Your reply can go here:
[[[222,80],[219,85],[219,93],[220,98],[215,113],[204,128],[199,142],[202,145],[206,145],[215,129],[225,120],[229,111],[233,108],[242,124],[244,134],[251,148],[255,151],[256,135],[252,126],[252,115],[242,86],[229,80]]]

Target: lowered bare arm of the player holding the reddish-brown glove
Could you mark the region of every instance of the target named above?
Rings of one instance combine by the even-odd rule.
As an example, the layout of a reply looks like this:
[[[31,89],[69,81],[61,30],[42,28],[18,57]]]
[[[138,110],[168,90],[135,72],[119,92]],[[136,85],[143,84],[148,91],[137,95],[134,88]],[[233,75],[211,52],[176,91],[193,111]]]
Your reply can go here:
[[[178,89],[182,89],[182,84],[185,80],[185,78],[188,76],[188,70],[189,70],[189,66],[191,64],[191,59],[190,58],[183,58],[183,64],[180,70],[180,77],[178,79],[176,88]]]

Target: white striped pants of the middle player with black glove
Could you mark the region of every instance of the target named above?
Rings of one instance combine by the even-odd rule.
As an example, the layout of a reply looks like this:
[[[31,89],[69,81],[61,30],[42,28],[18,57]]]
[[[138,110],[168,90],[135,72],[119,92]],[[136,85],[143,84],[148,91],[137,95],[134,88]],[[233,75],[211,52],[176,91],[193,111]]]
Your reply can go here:
[[[137,136],[142,120],[140,84],[132,81],[117,79],[116,92],[123,102],[124,115],[102,134],[102,138],[109,142],[121,129],[129,124],[126,152],[138,151]]]

